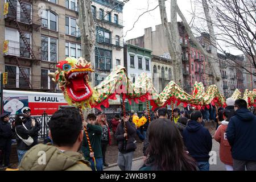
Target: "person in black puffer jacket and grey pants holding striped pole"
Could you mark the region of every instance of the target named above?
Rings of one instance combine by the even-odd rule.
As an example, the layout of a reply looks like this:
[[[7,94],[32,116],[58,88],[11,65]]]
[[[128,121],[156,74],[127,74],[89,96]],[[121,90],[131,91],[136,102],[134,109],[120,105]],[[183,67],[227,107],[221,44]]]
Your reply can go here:
[[[129,113],[121,114],[122,120],[115,131],[115,138],[118,141],[117,164],[122,171],[131,171],[133,164],[133,153],[136,146],[136,126],[131,121]]]

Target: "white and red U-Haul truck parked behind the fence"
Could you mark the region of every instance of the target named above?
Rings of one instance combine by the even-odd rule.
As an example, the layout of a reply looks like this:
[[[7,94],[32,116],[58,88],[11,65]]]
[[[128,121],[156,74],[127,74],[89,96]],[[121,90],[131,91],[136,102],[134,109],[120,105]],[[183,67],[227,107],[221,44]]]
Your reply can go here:
[[[52,115],[61,106],[67,106],[62,93],[3,90],[3,111],[11,115],[30,107],[31,115]]]

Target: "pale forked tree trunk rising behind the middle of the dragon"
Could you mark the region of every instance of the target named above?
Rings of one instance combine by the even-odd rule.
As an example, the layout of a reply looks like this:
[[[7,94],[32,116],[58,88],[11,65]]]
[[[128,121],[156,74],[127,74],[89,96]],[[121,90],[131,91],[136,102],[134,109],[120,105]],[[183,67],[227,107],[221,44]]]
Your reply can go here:
[[[172,0],[173,1],[173,0]],[[171,26],[168,24],[166,13],[166,5],[164,0],[159,0],[159,9],[162,24],[164,25],[164,33],[167,38],[167,46],[171,55],[172,65],[174,67],[174,81],[183,88],[183,73],[180,56],[179,31],[177,29],[176,0],[171,2]],[[173,26],[172,26],[173,25]],[[172,28],[170,28],[172,27]]]

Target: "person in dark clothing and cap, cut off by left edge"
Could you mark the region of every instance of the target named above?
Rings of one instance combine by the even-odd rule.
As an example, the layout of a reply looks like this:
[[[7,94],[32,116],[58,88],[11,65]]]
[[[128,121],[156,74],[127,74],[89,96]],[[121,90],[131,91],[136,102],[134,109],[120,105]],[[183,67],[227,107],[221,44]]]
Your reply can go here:
[[[11,138],[13,130],[7,113],[0,115],[0,167],[10,167]]]

